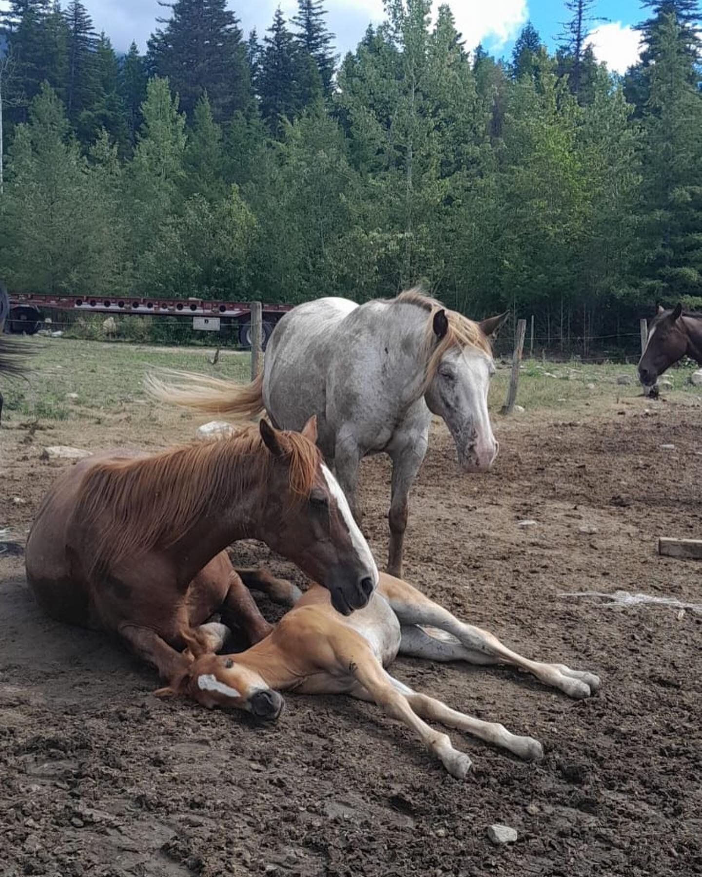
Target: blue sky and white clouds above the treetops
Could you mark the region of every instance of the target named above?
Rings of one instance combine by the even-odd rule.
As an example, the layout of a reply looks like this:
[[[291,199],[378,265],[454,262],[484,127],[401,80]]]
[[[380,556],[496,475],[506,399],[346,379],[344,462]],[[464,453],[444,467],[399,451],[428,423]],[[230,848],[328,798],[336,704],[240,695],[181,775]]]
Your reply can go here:
[[[96,29],[104,30],[118,51],[124,51],[132,39],[146,48],[155,18],[165,17],[168,9],[157,0],[82,0],[93,18]],[[2,6],[3,0],[0,0]],[[62,5],[66,0],[62,0]],[[509,55],[514,38],[527,18],[541,33],[549,47],[557,44],[562,21],[567,12],[561,0],[448,0],[466,45],[473,48],[479,41],[492,53]],[[255,27],[261,36],[269,27],[276,6],[285,13],[297,9],[297,0],[229,0],[229,6],[248,32]],[[336,34],[337,51],[354,49],[363,32],[373,21],[383,20],[383,0],[326,0],[327,21]],[[435,3],[438,5],[438,0]],[[626,69],[636,57],[638,36],[632,25],[642,16],[639,0],[596,0],[594,14],[608,19],[598,27],[593,46],[599,59],[612,69]]]

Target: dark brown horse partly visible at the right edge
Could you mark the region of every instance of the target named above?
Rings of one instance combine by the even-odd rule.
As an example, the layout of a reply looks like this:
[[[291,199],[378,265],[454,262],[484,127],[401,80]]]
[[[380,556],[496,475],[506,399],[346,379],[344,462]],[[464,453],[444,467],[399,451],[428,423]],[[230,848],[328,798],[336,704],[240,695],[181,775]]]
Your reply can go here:
[[[684,356],[702,366],[702,314],[684,311],[682,304],[671,310],[659,305],[648,326],[646,349],[639,360],[639,380],[644,387],[653,387],[663,372]]]

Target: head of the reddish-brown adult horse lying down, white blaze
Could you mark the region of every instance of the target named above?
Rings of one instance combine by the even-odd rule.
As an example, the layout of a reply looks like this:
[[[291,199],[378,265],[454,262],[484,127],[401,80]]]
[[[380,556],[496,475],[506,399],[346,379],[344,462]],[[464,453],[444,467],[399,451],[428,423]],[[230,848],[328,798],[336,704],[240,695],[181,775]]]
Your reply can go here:
[[[361,609],[376,588],[376,561],[315,445],[317,418],[301,433],[275,430],[265,420],[260,428],[274,461],[260,510],[265,541],[327,588],[342,615]]]

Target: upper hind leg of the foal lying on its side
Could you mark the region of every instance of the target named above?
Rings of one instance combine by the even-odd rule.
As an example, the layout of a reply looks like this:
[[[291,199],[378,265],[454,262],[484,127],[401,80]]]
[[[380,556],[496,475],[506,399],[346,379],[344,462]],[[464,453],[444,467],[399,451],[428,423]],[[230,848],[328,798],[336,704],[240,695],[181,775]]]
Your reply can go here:
[[[454,636],[465,646],[466,653],[462,655],[462,660],[479,664],[502,663],[520,667],[534,674],[544,685],[560,688],[570,697],[589,697],[599,688],[599,679],[595,674],[571,670],[564,664],[547,664],[529,660],[517,652],[512,652],[512,649],[503,645],[493,634],[459,621],[448,610],[429,600],[405,581],[385,581],[381,592],[390,602],[403,627],[411,624],[426,625],[447,631]],[[409,644],[410,641],[407,642]]]

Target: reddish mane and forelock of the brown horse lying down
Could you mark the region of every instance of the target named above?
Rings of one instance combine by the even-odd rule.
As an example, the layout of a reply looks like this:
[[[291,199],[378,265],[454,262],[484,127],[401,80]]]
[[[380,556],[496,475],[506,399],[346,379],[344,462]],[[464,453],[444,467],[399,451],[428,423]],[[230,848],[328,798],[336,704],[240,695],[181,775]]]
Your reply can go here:
[[[294,503],[312,490],[319,450],[299,432],[279,431],[277,437]],[[226,439],[98,463],[86,473],[75,507],[75,520],[95,522],[97,529],[86,574],[97,567],[107,571],[130,554],[166,549],[252,487],[265,491],[274,460],[258,427],[248,426]]]

